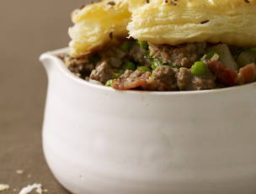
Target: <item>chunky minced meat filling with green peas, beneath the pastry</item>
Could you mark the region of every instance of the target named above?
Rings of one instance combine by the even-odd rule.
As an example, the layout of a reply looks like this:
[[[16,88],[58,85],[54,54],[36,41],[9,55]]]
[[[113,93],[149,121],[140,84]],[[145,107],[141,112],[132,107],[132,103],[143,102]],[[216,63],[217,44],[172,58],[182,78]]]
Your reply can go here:
[[[76,76],[117,90],[196,91],[256,81],[256,52],[250,51],[248,60],[243,57],[248,48],[241,52],[223,45],[153,45],[128,39],[91,55],[60,57]],[[228,57],[234,67],[227,64]]]

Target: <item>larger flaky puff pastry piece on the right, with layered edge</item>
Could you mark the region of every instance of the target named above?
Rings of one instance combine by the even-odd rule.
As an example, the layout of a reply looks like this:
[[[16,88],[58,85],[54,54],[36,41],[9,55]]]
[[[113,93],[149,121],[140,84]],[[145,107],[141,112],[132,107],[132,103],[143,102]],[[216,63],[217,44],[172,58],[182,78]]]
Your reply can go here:
[[[154,44],[256,45],[256,0],[151,0],[131,20],[131,36]]]

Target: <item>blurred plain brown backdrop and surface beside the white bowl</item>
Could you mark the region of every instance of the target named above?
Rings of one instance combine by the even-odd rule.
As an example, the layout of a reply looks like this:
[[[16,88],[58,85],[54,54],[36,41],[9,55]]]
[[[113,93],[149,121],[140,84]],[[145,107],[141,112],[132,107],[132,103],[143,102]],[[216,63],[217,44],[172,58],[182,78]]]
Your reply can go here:
[[[0,184],[42,183],[51,194],[66,191],[54,181],[41,150],[46,75],[39,55],[66,47],[70,13],[85,0],[0,1]],[[16,175],[15,170],[24,170]],[[28,176],[31,176],[28,178]]]

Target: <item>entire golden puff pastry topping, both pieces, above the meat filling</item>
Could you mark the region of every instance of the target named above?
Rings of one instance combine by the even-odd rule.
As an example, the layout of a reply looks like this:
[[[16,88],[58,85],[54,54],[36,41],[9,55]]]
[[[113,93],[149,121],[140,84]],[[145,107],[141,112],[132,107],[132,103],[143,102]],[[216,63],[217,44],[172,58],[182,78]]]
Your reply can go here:
[[[256,0],[103,0],[75,10],[72,22],[72,56],[125,38],[128,30],[135,39],[159,45],[256,45]]]

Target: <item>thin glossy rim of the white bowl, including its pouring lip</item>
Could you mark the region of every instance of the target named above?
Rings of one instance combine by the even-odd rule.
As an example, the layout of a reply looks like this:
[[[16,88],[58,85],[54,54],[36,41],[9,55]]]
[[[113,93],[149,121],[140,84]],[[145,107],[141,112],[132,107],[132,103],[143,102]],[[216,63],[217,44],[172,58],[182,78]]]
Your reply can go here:
[[[121,93],[127,93],[127,94],[147,94],[147,95],[157,95],[157,96],[184,96],[184,95],[194,95],[194,94],[213,94],[213,93],[222,93],[222,92],[233,92],[238,89],[243,89],[246,87],[254,87],[256,89],[256,81],[248,84],[244,84],[241,86],[235,86],[235,87],[224,87],[224,88],[218,88],[218,89],[211,89],[211,90],[201,90],[201,91],[170,91],[170,92],[155,92],[155,91],[136,91],[136,90],[126,90],[126,91],[119,91],[115,90],[112,87],[105,87],[103,85],[91,83],[89,81],[85,81],[74,74],[72,74],[71,71],[67,69],[67,66],[65,66],[64,62],[57,57],[56,55],[60,55],[63,53],[68,53],[70,50],[69,47],[62,48],[59,50],[52,50],[43,53],[40,55],[40,61],[42,62],[44,59],[51,59],[54,60],[57,64],[57,67],[60,69],[61,72],[63,72],[66,76],[68,76],[72,81],[76,81],[77,83],[86,86],[86,87],[94,87],[100,90],[104,90],[106,92],[121,92]]]

